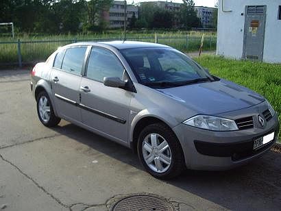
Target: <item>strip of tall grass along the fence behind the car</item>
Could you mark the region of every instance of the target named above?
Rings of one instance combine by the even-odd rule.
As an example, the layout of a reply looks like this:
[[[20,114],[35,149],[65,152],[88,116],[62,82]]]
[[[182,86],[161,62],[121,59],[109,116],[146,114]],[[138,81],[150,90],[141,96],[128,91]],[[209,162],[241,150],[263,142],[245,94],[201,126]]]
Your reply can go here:
[[[181,51],[198,51],[201,43],[201,32],[156,32],[158,42],[164,45],[169,45]],[[205,50],[215,50],[217,38],[215,33],[205,33],[206,39],[204,41]],[[187,36],[189,39],[187,39]],[[17,43],[1,43],[1,42],[16,42],[18,38],[21,41],[32,41],[32,43],[21,44],[21,55],[24,63],[34,63],[44,61],[53,53],[58,47],[67,45],[69,43],[82,40],[122,40],[123,31],[112,30],[106,33],[89,33],[89,34],[64,34],[64,35],[34,35],[34,34],[20,34],[12,39],[7,36],[0,36],[0,64],[1,63],[16,63],[18,62],[18,46]],[[144,42],[155,42],[155,33],[153,31],[133,31],[127,32],[128,40],[138,40]],[[52,40],[60,40],[59,42],[52,42]],[[45,42],[34,42],[45,41]]]

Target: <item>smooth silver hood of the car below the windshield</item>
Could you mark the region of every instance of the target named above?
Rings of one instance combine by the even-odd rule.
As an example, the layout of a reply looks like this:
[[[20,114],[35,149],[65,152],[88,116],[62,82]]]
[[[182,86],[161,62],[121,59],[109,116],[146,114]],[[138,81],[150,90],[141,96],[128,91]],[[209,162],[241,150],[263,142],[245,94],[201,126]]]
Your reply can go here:
[[[198,114],[220,114],[257,105],[265,98],[243,86],[221,79],[217,82],[158,89]]]

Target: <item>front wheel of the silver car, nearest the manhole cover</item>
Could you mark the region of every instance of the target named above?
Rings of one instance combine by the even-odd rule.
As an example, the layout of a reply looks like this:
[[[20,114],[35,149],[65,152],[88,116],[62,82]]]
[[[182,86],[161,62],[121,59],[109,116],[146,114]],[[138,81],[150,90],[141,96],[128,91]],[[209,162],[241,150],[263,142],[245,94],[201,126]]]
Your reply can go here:
[[[154,140],[154,144],[152,140]],[[165,147],[166,149],[164,149]],[[148,125],[140,132],[137,151],[141,164],[158,179],[171,179],[180,175],[185,169],[184,153],[180,142],[164,123]],[[151,162],[151,160],[153,161]],[[158,168],[158,166],[160,167]]]

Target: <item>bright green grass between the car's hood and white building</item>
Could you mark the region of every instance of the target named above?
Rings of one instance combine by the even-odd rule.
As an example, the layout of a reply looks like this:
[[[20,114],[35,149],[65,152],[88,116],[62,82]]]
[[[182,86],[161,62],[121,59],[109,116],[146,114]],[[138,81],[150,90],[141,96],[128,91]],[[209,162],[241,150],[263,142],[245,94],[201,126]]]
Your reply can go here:
[[[210,55],[196,60],[212,75],[236,82],[264,96],[278,112],[281,122],[281,64],[228,60]]]

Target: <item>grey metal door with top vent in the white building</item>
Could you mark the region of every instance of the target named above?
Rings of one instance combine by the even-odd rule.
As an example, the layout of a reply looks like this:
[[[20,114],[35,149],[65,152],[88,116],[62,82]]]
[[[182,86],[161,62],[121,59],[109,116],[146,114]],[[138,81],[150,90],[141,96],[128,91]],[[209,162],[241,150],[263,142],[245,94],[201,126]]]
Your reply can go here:
[[[265,42],[266,5],[246,6],[243,58],[262,61]]]

